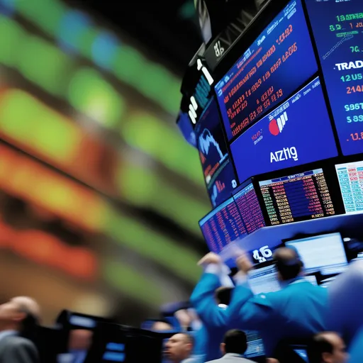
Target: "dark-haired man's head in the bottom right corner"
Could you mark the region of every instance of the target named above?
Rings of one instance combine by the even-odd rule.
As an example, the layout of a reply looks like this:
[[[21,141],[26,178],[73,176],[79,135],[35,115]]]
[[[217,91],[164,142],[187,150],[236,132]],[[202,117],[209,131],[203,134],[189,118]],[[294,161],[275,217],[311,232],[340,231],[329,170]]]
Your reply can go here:
[[[342,338],[334,332],[319,333],[308,347],[311,363],[345,363],[348,354]]]

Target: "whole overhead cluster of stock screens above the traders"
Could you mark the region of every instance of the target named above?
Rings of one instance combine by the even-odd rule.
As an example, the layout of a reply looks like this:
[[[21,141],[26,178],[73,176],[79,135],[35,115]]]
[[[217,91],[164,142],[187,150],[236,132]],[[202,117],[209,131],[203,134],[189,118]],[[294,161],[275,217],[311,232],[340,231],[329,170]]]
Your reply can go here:
[[[363,213],[362,23],[361,0],[270,0],[222,57],[190,66],[200,71],[184,98],[211,81],[189,118],[211,250],[264,226]]]

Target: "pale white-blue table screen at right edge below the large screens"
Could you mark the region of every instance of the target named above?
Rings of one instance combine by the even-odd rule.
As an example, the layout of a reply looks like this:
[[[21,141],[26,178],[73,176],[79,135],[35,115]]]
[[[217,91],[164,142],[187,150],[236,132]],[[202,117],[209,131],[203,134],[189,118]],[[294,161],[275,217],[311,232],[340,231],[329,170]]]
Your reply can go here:
[[[363,161],[335,165],[345,213],[363,213]]]

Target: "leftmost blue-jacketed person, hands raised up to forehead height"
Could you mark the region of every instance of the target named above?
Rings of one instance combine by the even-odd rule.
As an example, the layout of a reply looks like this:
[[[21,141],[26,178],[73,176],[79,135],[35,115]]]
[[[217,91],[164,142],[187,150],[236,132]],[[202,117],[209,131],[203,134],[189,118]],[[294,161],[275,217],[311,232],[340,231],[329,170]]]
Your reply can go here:
[[[203,323],[200,333],[203,332],[204,336],[199,338],[206,342],[202,352],[206,362],[221,357],[220,343],[229,330],[228,291],[233,287],[233,282],[228,277],[228,268],[213,252],[203,257],[199,264],[203,267],[204,273],[191,294],[190,301]],[[220,289],[222,285],[225,289]]]

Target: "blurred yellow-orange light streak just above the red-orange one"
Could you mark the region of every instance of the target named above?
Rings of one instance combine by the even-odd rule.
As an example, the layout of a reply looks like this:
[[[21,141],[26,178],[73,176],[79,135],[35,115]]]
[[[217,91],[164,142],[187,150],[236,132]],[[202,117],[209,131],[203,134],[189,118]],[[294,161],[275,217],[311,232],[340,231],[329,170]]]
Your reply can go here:
[[[104,227],[108,208],[96,193],[4,145],[0,145],[0,155],[0,188],[6,193],[84,230]]]

